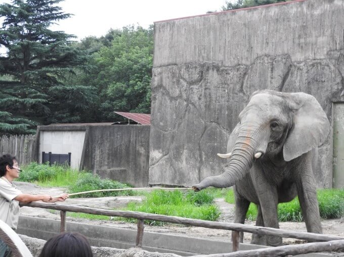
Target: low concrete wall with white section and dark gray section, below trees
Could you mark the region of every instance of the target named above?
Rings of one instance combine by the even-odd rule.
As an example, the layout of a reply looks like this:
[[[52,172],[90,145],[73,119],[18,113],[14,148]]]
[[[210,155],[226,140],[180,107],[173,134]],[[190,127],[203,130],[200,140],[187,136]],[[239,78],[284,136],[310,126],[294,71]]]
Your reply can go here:
[[[37,159],[41,160],[41,151],[71,152],[73,168],[144,187],[148,185],[149,133],[150,126],[144,125],[39,126]]]

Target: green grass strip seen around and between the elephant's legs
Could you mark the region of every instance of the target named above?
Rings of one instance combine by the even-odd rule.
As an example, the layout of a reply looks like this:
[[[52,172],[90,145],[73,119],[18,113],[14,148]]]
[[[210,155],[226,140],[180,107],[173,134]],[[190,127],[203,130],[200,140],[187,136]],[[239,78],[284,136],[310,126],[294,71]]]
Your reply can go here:
[[[343,189],[320,189],[317,191],[319,201],[320,217],[322,219],[336,219],[344,217],[344,190]],[[229,190],[225,196],[225,201],[234,203],[233,190]],[[251,203],[246,218],[256,220],[257,208]],[[290,202],[278,204],[278,220],[286,221],[303,221],[302,211],[296,197]]]

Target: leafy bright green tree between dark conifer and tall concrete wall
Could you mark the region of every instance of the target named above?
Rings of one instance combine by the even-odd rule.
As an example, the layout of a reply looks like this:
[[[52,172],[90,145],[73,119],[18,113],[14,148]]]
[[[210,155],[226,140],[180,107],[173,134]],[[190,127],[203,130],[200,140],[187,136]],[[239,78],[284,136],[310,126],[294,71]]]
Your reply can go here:
[[[88,73],[78,82],[98,88],[101,100],[96,121],[118,119],[114,111],[150,113],[153,27],[111,29],[99,40],[103,47],[93,54]],[[92,48],[98,42],[88,38],[81,44]]]

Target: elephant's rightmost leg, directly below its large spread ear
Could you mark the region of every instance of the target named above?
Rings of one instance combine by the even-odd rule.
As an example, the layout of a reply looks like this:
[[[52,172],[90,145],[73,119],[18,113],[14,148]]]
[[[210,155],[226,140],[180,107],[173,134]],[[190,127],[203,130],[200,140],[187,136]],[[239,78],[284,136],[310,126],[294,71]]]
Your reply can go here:
[[[298,200],[305,219],[308,232],[322,233],[319,203],[312,171],[310,152],[300,157],[302,161],[296,166],[294,176],[297,178],[296,187]]]

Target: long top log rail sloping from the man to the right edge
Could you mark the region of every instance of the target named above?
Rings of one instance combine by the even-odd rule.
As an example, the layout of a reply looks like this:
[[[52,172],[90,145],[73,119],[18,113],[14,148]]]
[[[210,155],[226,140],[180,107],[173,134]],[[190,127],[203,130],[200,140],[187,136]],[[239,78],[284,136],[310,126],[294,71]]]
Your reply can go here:
[[[237,231],[254,233],[254,234],[259,234],[259,235],[273,235],[273,236],[297,238],[297,239],[311,240],[311,241],[330,241],[330,240],[344,239],[344,237],[339,237],[339,236],[330,236],[330,235],[307,233],[307,232],[295,232],[295,231],[288,231],[284,229],[257,227],[257,226],[239,224],[239,223],[203,221],[203,220],[194,220],[194,219],[181,218],[181,217],[175,217],[175,216],[165,216],[165,215],[159,215],[159,214],[149,214],[149,213],[132,212],[132,211],[113,211],[113,210],[105,210],[105,209],[98,209],[98,208],[91,208],[91,207],[79,207],[75,205],[41,203],[41,202],[30,202],[30,203],[21,202],[20,206],[53,209],[53,210],[58,210],[58,211],[66,211],[66,212],[74,212],[74,213],[87,213],[87,214],[105,215],[105,216],[113,216],[113,217],[134,218],[134,219],[139,219],[139,220],[162,221],[162,222],[190,225],[190,226],[195,226],[195,227],[212,228],[212,229],[237,230]]]

